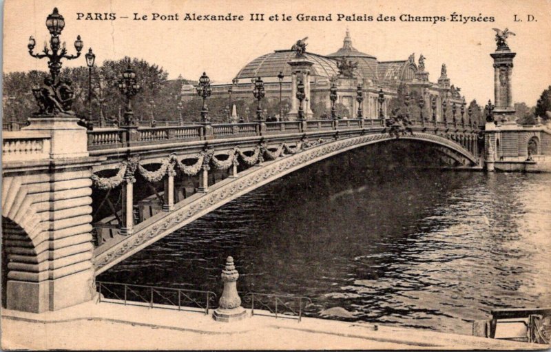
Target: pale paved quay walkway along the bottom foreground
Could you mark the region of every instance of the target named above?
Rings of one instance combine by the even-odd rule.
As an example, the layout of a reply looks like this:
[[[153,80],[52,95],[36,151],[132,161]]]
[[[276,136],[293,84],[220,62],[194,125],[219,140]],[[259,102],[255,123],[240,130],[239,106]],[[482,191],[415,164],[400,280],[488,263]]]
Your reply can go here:
[[[2,311],[2,349],[545,349],[363,322],[255,315],[216,322],[194,311],[107,302],[42,314]]]

